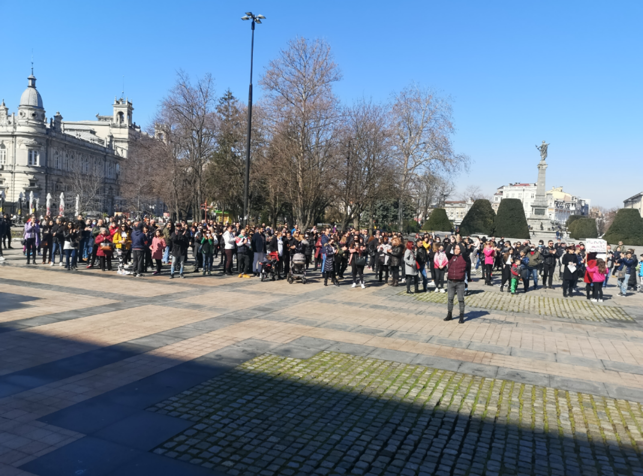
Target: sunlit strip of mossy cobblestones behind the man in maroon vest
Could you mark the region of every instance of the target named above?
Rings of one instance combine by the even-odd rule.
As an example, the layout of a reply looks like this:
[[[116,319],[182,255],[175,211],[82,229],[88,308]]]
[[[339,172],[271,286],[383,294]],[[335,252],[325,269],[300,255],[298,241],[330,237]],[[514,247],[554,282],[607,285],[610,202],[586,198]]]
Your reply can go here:
[[[447,302],[447,293],[429,292],[408,295],[406,291],[401,291],[398,294],[424,302],[438,304],[446,304]],[[509,293],[478,291],[464,298],[464,302],[466,306],[507,311],[509,313],[529,313],[600,322],[608,320],[634,321],[622,307],[587,302],[584,298],[570,300],[569,298],[548,298],[532,294],[516,294],[512,296]]]

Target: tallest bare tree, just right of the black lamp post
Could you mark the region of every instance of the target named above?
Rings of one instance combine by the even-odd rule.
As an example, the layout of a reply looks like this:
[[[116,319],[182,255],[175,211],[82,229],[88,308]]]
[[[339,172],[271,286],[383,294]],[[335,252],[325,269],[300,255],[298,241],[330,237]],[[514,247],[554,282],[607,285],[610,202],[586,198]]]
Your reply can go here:
[[[332,84],[340,79],[331,47],[323,40],[302,37],[289,41],[260,79],[276,167],[288,184],[286,196],[302,228],[312,224],[328,203],[340,117]]]

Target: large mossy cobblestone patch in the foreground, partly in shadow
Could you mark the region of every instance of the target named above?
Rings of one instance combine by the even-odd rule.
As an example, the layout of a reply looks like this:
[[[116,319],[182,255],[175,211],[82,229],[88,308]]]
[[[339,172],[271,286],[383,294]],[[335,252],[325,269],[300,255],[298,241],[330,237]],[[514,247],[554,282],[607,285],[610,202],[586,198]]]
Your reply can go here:
[[[231,475],[515,474],[521,464],[633,475],[643,446],[638,403],[337,352],[264,354],[148,410],[194,422],[154,453]]]

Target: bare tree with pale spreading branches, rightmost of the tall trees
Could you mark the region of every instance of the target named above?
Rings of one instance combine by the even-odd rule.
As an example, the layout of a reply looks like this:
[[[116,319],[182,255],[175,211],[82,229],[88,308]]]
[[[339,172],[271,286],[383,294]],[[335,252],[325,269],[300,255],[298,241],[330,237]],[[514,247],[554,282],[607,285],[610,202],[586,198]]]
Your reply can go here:
[[[469,158],[453,151],[451,100],[412,84],[395,95],[392,106],[395,158],[400,178],[398,226],[402,231],[403,199],[416,174],[434,175],[467,169]]]

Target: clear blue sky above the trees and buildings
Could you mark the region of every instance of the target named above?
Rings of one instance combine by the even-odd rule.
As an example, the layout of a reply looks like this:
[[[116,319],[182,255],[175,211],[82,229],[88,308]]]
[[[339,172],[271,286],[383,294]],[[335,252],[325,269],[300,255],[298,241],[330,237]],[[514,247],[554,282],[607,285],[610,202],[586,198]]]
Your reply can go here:
[[[341,100],[386,100],[411,81],[454,100],[460,189],[536,181],[622,206],[643,190],[643,2],[597,1],[32,1],[0,0],[0,98],[15,111],[33,48],[48,116],[111,113],[122,90],[147,127],[177,69],[212,73],[246,100],[250,25],[258,73],[296,35],[324,37],[344,78]],[[260,91],[257,93],[260,94]],[[255,93],[255,94],[257,94]],[[256,97],[256,96],[255,96]]]

